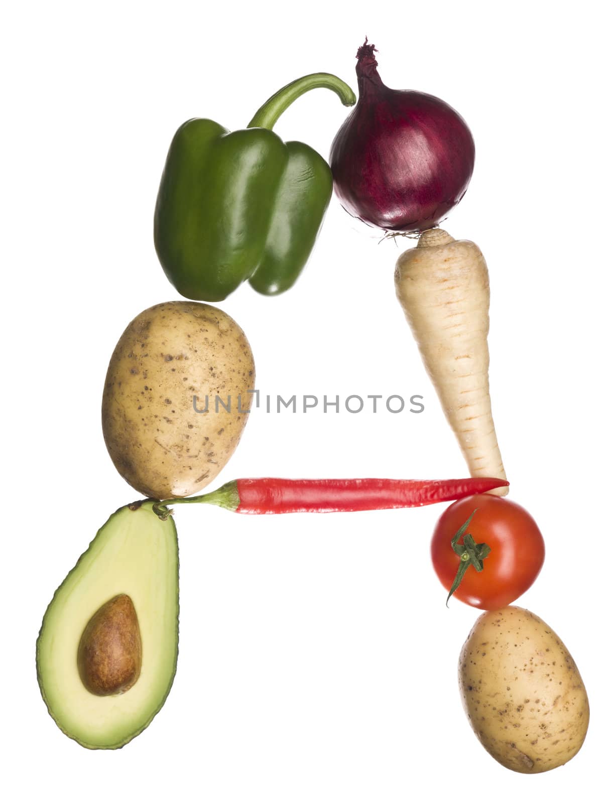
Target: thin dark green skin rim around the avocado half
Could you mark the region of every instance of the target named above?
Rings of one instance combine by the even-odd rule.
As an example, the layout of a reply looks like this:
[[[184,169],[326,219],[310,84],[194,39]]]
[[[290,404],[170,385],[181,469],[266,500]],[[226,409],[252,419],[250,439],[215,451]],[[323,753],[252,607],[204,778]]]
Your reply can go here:
[[[42,642],[43,634],[44,634],[45,628],[47,626],[47,617],[48,617],[49,613],[51,612],[51,609],[53,609],[54,602],[55,602],[56,598],[58,597],[59,592],[61,591],[61,589],[63,589],[63,586],[66,585],[67,581],[80,569],[80,565],[81,565],[81,562],[84,560],[84,557],[88,554],[88,552],[92,548],[92,546],[94,544],[96,544],[96,540],[100,536],[102,536],[104,534],[104,530],[108,527],[108,524],[111,524],[112,521],[116,518],[116,516],[119,516],[121,513],[125,512],[126,510],[129,510],[130,512],[136,512],[137,510],[147,510],[147,509],[151,510],[151,508],[153,507],[153,503],[155,503],[156,501],[157,501],[156,499],[139,500],[139,501],[137,501],[135,503],[130,503],[128,505],[124,505],[122,507],[119,507],[114,513],[112,513],[111,516],[108,517],[108,520],[103,524],[103,526],[98,530],[98,532],[96,532],[96,536],[94,536],[94,538],[88,544],[88,548],[80,555],[79,560],[76,561],[76,564],[74,565],[74,567],[70,570],[69,573],[67,573],[67,576],[64,577],[62,583],[60,583],[60,585],[57,587],[57,589],[55,589],[55,593],[53,594],[51,602],[49,603],[49,605],[47,605],[47,609],[45,610],[45,614],[43,616],[43,622],[42,622],[42,624],[40,626],[40,630],[39,630],[39,636],[36,639],[36,679],[37,679],[37,681],[39,683],[40,693],[41,693],[41,696],[43,697],[43,702],[45,703],[45,705],[47,707],[47,711],[48,711],[49,715],[51,716],[51,719],[54,720],[54,722],[58,726],[59,730],[61,732],[63,732],[63,734],[65,736],[68,736],[69,739],[75,740],[77,742],[77,744],[80,744],[81,747],[87,748],[88,750],[118,750],[118,749],[121,749],[121,748],[125,747],[126,744],[128,744],[130,741],[132,741],[136,736],[139,736],[139,734],[141,734],[146,728],[149,727],[149,725],[153,721],[153,718],[155,717],[155,715],[157,715],[157,713],[159,713],[159,711],[161,711],[161,708],[164,706],[164,703],[166,703],[166,698],[170,694],[170,689],[172,688],[173,683],[174,683],[174,676],[176,675],[176,672],[177,672],[178,637],[179,637],[179,627],[178,627],[178,621],[179,621],[179,597],[178,597],[178,594],[177,594],[177,607],[176,607],[176,622],[177,622],[177,626],[176,626],[176,638],[175,638],[175,641],[174,641],[175,650],[174,650],[173,670],[172,670],[172,673],[170,675],[170,680],[169,680],[168,686],[166,687],[166,691],[164,691],[163,695],[161,696],[159,705],[157,706],[155,711],[153,711],[153,713],[149,716],[149,718],[145,721],[145,723],[142,724],[141,727],[137,728],[135,731],[129,733],[129,735],[125,736],[125,738],[122,738],[121,740],[117,741],[116,744],[108,744],[108,745],[88,744],[88,742],[86,740],[79,739],[73,733],[67,731],[66,728],[63,728],[62,723],[55,716],[55,712],[53,711],[53,709],[52,709],[52,707],[51,707],[51,705],[49,703],[49,700],[47,699],[47,695],[45,693],[44,681],[43,681],[43,671],[42,671],[42,667],[41,667],[41,652],[40,652],[40,650],[41,650],[41,642]],[[152,513],[153,516],[156,515],[156,514],[153,513],[153,510],[151,510],[151,513]],[[173,516],[169,516],[168,519],[166,520],[166,523],[168,523],[170,525],[170,528],[171,528],[170,535],[174,538],[174,544],[175,544],[175,548],[177,550],[177,573],[176,573],[175,581],[176,581],[177,589],[178,589],[179,560],[178,560],[177,528],[176,528],[176,526],[174,524]]]

